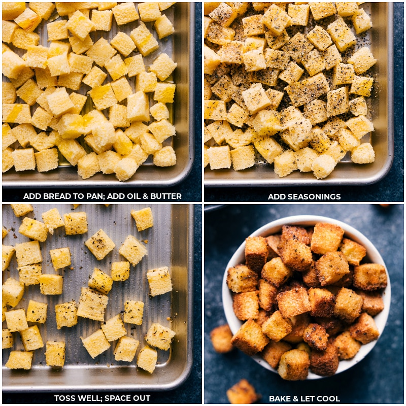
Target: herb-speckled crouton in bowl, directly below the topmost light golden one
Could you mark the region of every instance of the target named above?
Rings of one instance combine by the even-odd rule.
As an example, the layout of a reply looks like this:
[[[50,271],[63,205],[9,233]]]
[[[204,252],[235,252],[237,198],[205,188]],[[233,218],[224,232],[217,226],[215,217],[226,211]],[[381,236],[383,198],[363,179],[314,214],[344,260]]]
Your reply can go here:
[[[321,286],[332,285],[350,272],[342,252],[327,252],[315,263]]]

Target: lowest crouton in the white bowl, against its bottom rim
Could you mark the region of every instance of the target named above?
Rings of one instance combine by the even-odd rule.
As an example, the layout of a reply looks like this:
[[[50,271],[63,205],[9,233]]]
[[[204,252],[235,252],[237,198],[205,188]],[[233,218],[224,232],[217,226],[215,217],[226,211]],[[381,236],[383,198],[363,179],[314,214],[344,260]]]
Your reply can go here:
[[[279,362],[278,373],[287,381],[302,381],[309,374],[309,354],[301,350],[285,352]]]

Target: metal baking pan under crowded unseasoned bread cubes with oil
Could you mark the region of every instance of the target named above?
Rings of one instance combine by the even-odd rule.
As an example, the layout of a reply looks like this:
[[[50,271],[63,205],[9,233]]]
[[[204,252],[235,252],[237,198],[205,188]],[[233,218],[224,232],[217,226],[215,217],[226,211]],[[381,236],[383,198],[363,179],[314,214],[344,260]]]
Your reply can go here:
[[[194,161],[194,126],[193,126],[193,92],[194,92],[194,3],[176,3],[164,14],[173,22],[175,32],[172,36],[157,41],[160,44],[158,51],[147,56],[145,64],[149,65],[161,52],[170,55],[178,63],[173,74],[173,81],[177,85],[175,99],[172,108],[172,123],[176,127],[176,136],[173,140],[166,140],[171,143],[177,155],[177,163],[170,167],[156,167],[149,158],[142,164],[136,174],[126,182],[119,182],[113,175],[98,173],[93,177],[83,180],[78,174],[76,167],[72,167],[66,161],[61,161],[60,166],[53,171],[39,173],[36,171],[16,172],[14,168],[3,174],[3,187],[108,187],[108,186],[173,186],[180,183],[189,174]],[[52,18],[52,17],[51,17]],[[45,24],[46,22],[43,22]],[[154,36],[156,32],[152,29],[153,23],[146,23]],[[120,27],[120,30],[129,35],[129,32],[137,27],[139,22],[129,23]],[[112,30],[103,36],[112,39],[117,33],[117,25],[113,19]],[[46,27],[39,26],[36,32],[40,35],[40,43],[47,46]],[[94,36],[90,33],[90,36]],[[97,32],[97,39],[100,33]],[[20,53],[23,50],[17,50]],[[25,52],[25,51],[24,51]],[[24,53],[22,52],[22,53]],[[129,55],[133,55],[132,53]],[[110,77],[110,76],[109,76]],[[108,77],[108,78],[109,78]],[[131,78],[133,79],[133,78]],[[4,77],[3,77],[4,80]],[[134,87],[134,80],[130,80]],[[88,86],[82,86],[80,93],[90,90]],[[18,98],[16,103],[18,103]],[[88,104],[91,100],[88,100]],[[87,106],[87,105],[86,105]],[[85,109],[86,109],[85,106]],[[63,157],[62,157],[63,158]]]

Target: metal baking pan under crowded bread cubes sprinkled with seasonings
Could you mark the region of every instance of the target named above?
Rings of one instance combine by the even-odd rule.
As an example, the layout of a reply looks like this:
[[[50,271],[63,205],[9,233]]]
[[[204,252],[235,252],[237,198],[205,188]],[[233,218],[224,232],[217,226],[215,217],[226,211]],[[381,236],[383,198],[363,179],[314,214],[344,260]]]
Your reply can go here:
[[[362,7],[373,21],[359,46],[368,45],[378,62],[368,71],[374,77],[371,95],[371,118],[375,131],[363,141],[370,141],[375,150],[375,162],[354,164],[349,156],[339,162],[325,179],[317,180],[312,173],[293,172],[285,178],[274,173],[273,165],[256,163],[243,171],[206,168],[204,185],[213,186],[318,186],[366,185],[378,182],[389,172],[393,162],[393,4],[364,3]]]

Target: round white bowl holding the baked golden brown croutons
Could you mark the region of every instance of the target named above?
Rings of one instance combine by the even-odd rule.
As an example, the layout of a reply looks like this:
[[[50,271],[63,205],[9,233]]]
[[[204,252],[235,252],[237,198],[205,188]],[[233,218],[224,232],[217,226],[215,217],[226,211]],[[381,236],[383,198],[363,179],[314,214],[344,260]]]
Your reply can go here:
[[[282,226],[285,224],[289,225],[301,225],[304,227],[309,227],[312,225],[315,225],[316,223],[331,223],[331,224],[337,224],[340,227],[342,227],[345,231],[344,236],[346,238],[349,238],[351,240],[354,240],[355,242],[363,245],[366,248],[366,256],[362,260],[363,263],[365,262],[373,262],[373,263],[379,263],[385,266],[384,260],[382,259],[378,249],[363,235],[361,232],[356,230],[355,228],[351,227],[350,225],[343,223],[341,221],[331,219],[328,217],[322,217],[322,216],[307,216],[307,215],[299,215],[299,216],[291,216],[291,217],[285,217],[281,218],[275,221],[272,221],[268,224],[265,224],[261,228],[257,229],[254,231],[250,236],[268,236],[272,234],[276,234],[281,231]],[[248,235],[247,235],[248,236]],[[240,245],[240,247],[235,251],[234,255],[231,257],[230,261],[227,264],[227,267],[225,269],[224,277],[223,277],[223,284],[222,284],[222,300],[223,300],[223,307],[224,307],[224,313],[227,319],[227,323],[230,326],[230,329],[233,334],[236,333],[236,331],[239,330],[239,328],[242,326],[244,323],[243,321],[239,320],[233,311],[232,307],[232,295],[231,291],[228,289],[227,286],[227,270],[230,267],[233,267],[235,265],[241,264],[245,262],[245,255],[244,255],[244,250],[245,250],[245,241]],[[385,266],[386,268],[386,266]],[[391,299],[391,288],[390,288],[390,280],[389,280],[389,275],[387,272],[387,287],[383,290],[383,301],[384,301],[384,310],[380,312],[378,315],[374,317],[375,323],[377,325],[377,328],[379,330],[379,337],[382,335],[382,332],[385,328],[386,321],[388,319],[388,314],[389,314],[389,307],[390,307],[390,299]],[[379,340],[378,337],[378,340]],[[348,360],[341,360],[339,367],[336,371],[336,374],[339,374],[352,366],[354,366],[356,363],[361,361],[377,344],[377,341],[372,341],[368,344],[364,344],[361,346],[360,350],[358,353],[355,355],[354,358],[348,359]],[[294,347],[294,345],[292,346]],[[261,358],[260,355],[256,354],[252,356],[252,358],[261,366],[263,366],[266,369],[269,369],[270,371],[273,371],[274,373],[278,373],[277,369],[271,367],[264,359]],[[309,375],[307,379],[320,379],[324,378],[322,376],[313,374],[309,368]]]

